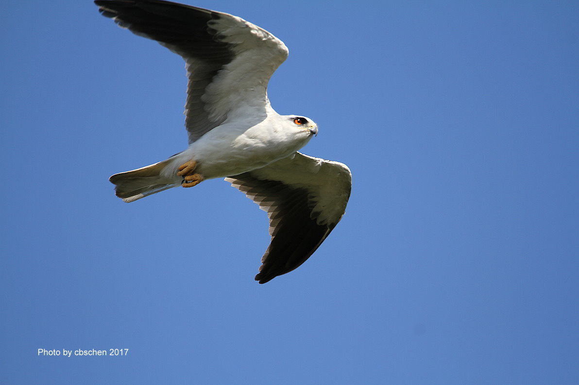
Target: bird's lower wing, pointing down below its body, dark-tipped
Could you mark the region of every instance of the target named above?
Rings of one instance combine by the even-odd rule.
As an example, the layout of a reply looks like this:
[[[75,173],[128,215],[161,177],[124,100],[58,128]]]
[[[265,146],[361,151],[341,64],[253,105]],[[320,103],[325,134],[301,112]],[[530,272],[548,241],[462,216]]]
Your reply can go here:
[[[225,179],[267,212],[271,242],[255,280],[266,283],[303,264],[334,229],[350,197],[346,165],[296,153]]]

